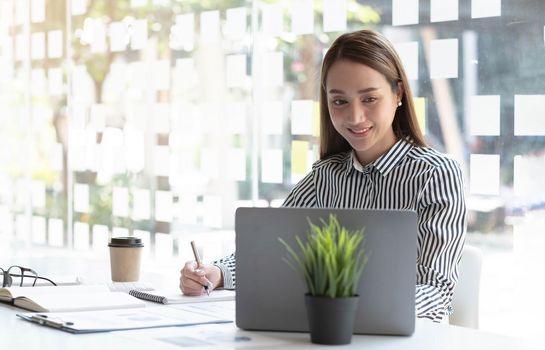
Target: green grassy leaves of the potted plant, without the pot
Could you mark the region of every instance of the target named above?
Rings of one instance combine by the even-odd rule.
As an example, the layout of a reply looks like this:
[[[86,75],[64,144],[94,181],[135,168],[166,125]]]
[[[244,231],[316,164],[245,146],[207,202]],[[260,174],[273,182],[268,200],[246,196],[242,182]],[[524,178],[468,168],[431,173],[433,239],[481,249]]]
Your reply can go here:
[[[328,222],[320,219],[320,223],[318,226],[309,220],[306,242],[295,236],[299,252],[279,238],[288,252],[283,260],[296,272],[302,272],[310,295],[352,297],[367,263],[364,229],[349,231],[333,214]]]

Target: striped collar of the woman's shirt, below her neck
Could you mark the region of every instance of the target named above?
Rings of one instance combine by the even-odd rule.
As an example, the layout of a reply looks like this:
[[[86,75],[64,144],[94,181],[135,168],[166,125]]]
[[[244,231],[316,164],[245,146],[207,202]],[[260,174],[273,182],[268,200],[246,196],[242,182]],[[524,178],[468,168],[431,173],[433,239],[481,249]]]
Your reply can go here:
[[[409,139],[400,139],[388,150],[388,152],[384,153],[365,167],[361,165],[356,157],[356,153],[352,150],[352,152],[350,152],[350,157],[347,157],[346,174],[348,175],[352,169],[367,174],[374,168],[383,176],[386,176],[403,160],[405,155],[407,155],[413,147],[414,146]]]

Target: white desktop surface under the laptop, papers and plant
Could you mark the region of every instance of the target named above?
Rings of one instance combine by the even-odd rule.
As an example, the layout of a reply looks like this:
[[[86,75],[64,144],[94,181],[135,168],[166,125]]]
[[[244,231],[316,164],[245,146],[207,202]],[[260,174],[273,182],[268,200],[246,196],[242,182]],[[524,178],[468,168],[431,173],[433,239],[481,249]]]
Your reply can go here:
[[[65,270],[63,274],[76,271],[81,274],[81,269],[90,269],[96,273],[96,268],[105,269],[106,262],[82,262],[74,257],[66,257]],[[59,258],[18,259],[13,263],[26,264],[29,267],[40,266],[37,269],[40,273],[44,267],[58,267]],[[0,258],[0,266],[6,266],[6,260]],[[104,271],[104,270],[103,270]],[[46,274],[45,274],[46,275]],[[109,276],[109,275],[108,275]],[[17,312],[24,310],[13,308],[9,305],[0,304],[0,348],[2,349],[187,349],[172,342],[159,340],[157,338],[178,337],[183,341],[183,334],[187,332],[202,332],[203,330],[218,327],[195,326],[195,327],[169,327],[135,331],[95,333],[73,335],[55,329],[39,326],[23,321],[15,316]],[[273,332],[245,332],[238,330],[234,324],[225,324],[220,327],[223,332],[232,336],[249,336],[250,338],[263,338],[265,343],[270,345],[259,348],[283,348],[283,349],[307,349],[319,347],[309,341],[306,333],[273,333]],[[195,333],[193,333],[195,334]],[[187,340],[187,339],[185,339]],[[472,329],[449,326],[445,324],[434,324],[418,320],[416,331],[411,337],[387,337],[387,336],[354,336],[352,344],[342,347],[343,349],[403,349],[403,350],[425,350],[425,349],[542,349],[545,338],[541,340],[523,340],[500,335],[484,333]],[[233,343],[231,348],[257,348],[251,343]],[[332,349],[331,346],[322,346]],[[206,349],[198,347],[196,349]],[[210,348],[210,347],[208,347]],[[222,347],[223,349],[225,346]]]

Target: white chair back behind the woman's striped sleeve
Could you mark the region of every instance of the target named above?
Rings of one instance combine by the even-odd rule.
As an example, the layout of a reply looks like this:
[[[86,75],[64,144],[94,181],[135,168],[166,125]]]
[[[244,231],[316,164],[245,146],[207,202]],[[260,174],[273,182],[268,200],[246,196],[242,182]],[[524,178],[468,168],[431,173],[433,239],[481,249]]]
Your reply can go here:
[[[481,250],[466,245],[460,260],[458,284],[452,297],[454,313],[450,315],[450,324],[475,329],[479,327],[481,267]]]

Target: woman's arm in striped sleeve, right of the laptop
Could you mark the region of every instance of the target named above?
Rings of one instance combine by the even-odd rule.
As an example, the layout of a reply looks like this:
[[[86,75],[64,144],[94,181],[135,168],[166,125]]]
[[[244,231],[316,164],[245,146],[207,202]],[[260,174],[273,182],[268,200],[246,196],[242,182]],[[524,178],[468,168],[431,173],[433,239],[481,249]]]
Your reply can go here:
[[[436,167],[419,198],[416,315],[441,321],[450,314],[466,233],[464,182],[459,165]]]

